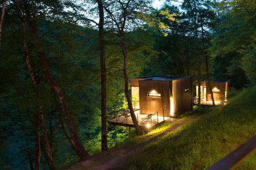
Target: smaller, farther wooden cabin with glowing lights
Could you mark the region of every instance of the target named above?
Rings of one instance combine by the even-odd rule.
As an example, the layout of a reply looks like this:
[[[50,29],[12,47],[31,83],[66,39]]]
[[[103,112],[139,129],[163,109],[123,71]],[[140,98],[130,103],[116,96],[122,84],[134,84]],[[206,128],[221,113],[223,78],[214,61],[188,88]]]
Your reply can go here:
[[[216,105],[226,104],[229,80],[227,81],[211,81],[212,93]],[[207,80],[201,81],[201,104],[212,105],[211,94]],[[196,98],[198,98],[198,86],[196,86]],[[197,102],[196,102],[197,104]]]

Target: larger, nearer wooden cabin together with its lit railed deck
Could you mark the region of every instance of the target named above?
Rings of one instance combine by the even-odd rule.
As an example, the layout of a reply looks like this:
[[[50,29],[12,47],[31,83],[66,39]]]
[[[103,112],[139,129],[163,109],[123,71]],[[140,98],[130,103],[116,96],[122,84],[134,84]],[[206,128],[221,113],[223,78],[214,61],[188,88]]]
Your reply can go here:
[[[132,103],[141,127],[174,122],[173,118],[193,109],[193,78],[190,76],[146,76],[131,79]],[[113,113],[112,113],[113,114]],[[129,110],[114,111],[108,122],[134,127]]]

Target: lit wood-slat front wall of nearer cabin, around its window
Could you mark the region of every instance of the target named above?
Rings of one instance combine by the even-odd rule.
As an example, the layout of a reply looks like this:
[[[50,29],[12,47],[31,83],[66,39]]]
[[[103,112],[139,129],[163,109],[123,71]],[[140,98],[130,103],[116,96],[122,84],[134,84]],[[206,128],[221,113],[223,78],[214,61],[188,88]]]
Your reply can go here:
[[[140,114],[152,114],[156,111],[159,116],[170,115],[170,88],[172,81],[138,81],[139,82],[139,98],[140,98]],[[152,90],[161,94],[161,98],[148,97],[147,93]],[[162,111],[164,109],[164,111]],[[164,112],[164,113],[163,113]]]

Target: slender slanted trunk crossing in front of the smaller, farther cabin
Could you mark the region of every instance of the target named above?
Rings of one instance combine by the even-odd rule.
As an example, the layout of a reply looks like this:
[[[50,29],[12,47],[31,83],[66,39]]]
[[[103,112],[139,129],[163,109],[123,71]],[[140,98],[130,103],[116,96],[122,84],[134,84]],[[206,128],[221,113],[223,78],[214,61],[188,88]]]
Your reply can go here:
[[[203,49],[204,49],[204,53],[205,53],[204,28],[203,28],[203,22],[202,22],[202,15],[201,15],[201,14],[200,14],[200,25],[201,25],[201,30],[202,30]],[[214,102],[214,93],[212,92],[211,82],[210,82],[210,75],[209,75],[208,56],[207,56],[206,53],[205,53],[204,55],[205,55],[205,65],[206,65],[207,84],[208,84],[208,88],[209,88],[209,90],[210,90],[212,105],[215,106],[215,102]],[[206,96],[206,98],[207,98],[207,96]]]

